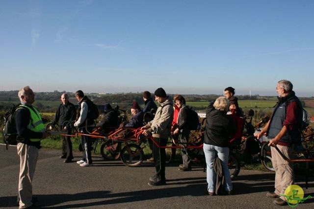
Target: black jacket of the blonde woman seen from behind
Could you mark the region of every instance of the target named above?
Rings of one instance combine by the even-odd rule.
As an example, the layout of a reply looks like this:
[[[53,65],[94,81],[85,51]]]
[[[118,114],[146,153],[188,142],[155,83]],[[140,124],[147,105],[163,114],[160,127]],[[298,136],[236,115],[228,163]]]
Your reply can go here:
[[[204,143],[219,147],[228,147],[230,135],[234,132],[234,123],[226,111],[219,111],[211,102],[206,109]]]

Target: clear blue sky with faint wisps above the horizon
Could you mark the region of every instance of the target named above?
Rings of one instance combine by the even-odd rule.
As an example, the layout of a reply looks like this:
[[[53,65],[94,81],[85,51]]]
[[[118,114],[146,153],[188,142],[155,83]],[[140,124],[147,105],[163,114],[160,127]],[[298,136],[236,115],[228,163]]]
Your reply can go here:
[[[314,0],[1,0],[0,91],[314,96]]]

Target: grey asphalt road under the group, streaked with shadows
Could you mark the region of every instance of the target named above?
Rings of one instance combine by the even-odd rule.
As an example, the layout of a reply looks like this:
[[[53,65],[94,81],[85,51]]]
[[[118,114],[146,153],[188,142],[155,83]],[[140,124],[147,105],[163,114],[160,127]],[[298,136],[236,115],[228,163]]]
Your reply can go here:
[[[127,167],[121,161],[103,161],[93,156],[94,166],[80,167],[63,163],[60,151],[40,149],[33,180],[33,195],[43,208],[278,208],[265,196],[273,190],[274,174],[241,170],[233,181],[234,195],[209,196],[204,193],[206,173],[202,168],[178,171],[179,163],[168,163],[167,185],[149,186],[154,175],[152,163]],[[75,160],[81,154],[74,153]],[[0,145],[0,207],[16,206],[19,158],[16,147],[5,150]],[[305,189],[304,176],[297,176],[305,196],[314,196],[314,178]],[[283,208],[289,208],[285,206]],[[314,199],[300,203],[297,208],[314,208]]]

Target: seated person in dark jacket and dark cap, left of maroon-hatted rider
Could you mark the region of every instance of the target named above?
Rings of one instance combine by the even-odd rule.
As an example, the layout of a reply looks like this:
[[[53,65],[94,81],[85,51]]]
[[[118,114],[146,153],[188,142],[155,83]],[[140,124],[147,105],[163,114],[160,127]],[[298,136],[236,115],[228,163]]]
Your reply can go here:
[[[96,126],[98,128],[103,128],[103,131],[107,133],[118,126],[119,113],[118,111],[112,109],[109,103],[105,104],[104,112],[105,114],[102,116],[101,121],[96,124]]]

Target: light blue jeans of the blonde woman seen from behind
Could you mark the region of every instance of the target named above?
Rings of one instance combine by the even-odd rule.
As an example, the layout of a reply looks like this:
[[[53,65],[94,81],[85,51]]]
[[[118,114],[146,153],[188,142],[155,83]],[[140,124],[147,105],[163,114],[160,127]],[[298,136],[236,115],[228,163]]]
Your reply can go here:
[[[222,162],[221,166],[225,177],[225,190],[231,191],[232,182],[230,172],[228,169],[229,147],[219,147],[210,144],[204,144],[203,150],[205,153],[205,159],[207,164],[207,183],[208,183],[207,190],[209,192],[215,192],[216,173],[214,171],[213,163],[217,153],[218,158]]]

